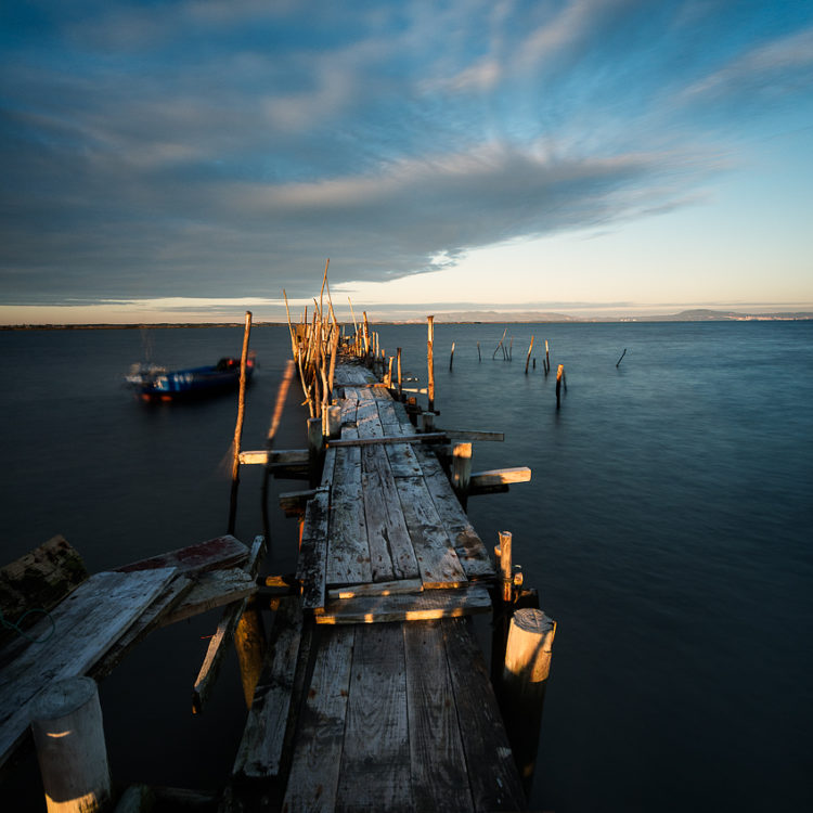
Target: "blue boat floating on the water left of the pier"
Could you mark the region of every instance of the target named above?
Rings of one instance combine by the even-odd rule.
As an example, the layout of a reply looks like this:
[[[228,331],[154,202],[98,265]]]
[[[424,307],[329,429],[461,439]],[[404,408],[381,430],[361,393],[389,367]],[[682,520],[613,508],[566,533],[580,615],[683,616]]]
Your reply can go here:
[[[255,358],[246,360],[246,384],[254,373]],[[240,359],[223,358],[217,364],[186,370],[166,370],[154,364],[137,365],[127,384],[145,401],[176,401],[217,395],[240,385]]]

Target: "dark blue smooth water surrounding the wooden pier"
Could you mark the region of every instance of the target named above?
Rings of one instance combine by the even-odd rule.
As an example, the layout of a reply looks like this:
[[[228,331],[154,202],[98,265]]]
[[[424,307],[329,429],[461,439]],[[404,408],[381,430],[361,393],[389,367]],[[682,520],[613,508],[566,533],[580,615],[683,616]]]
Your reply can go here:
[[[379,332],[424,376],[425,327]],[[531,805],[811,810],[813,323],[512,333],[507,362],[492,360],[502,326],[437,326],[436,402],[442,427],[505,433],[475,444],[475,470],[533,470],[469,502],[489,549],[513,531],[526,583],[558,621]],[[558,411],[545,338],[554,373],[566,369]],[[198,364],[241,340],[242,328],[0,334],[0,559],[60,532],[99,570],[222,533],[234,400],[147,408],[120,382],[147,351]],[[261,448],[287,330],[256,327],[251,345],[261,367],[243,447]],[[280,448],[304,446],[298,396]],[[250,541],[260,480],[243,470],[237,535]],[[295,526],[275,502],[272,514],[269,569],[291,569]],[[117,782],[223,783],[245,719],[233,660],[211,707],[190,712],[216,623],[209,614],[154,633],[102,684]],[[39,792],[24,762],[7,795],[26,786]]]

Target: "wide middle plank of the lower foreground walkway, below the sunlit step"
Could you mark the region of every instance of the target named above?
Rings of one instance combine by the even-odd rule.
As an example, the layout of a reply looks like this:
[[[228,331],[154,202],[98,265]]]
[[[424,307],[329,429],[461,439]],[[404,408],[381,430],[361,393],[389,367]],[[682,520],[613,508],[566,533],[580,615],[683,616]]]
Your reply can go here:
[[[403,633],[356,632],[336,811],[412,811]]]

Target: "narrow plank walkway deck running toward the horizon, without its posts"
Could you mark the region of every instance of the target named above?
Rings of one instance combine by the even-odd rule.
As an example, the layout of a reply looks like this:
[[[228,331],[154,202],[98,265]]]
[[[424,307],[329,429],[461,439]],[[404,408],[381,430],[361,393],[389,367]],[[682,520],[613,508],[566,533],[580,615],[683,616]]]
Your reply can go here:
[[[247,789],[276,782],[292,813],[521,810],[469,618],[491,609],[493,567],[370,375],[336,369],[341,439],[307,504],[302,594],[280,606],[232,798],[247,810]]]

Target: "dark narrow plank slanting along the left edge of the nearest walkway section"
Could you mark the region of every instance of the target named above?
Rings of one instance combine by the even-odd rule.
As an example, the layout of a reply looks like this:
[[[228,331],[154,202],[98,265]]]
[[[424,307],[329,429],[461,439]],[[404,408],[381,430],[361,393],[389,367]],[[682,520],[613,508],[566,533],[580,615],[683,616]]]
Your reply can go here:
[[[301,633],[299,599],[283,598],[237,749],[234,776],[263,779],[280,774]]]

